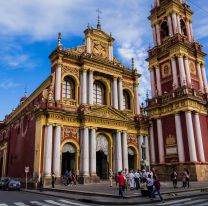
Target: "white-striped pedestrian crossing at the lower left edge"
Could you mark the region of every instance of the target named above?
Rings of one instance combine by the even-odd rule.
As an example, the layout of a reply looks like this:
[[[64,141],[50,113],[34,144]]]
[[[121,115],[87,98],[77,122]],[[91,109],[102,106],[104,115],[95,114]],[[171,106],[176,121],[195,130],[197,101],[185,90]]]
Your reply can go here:
[[[29,201],[28,203],[13,202],[12,204],[1,203],[0,206],[87,206],[86,204],[77,203],[69,200],[42,200],[42,201]]]

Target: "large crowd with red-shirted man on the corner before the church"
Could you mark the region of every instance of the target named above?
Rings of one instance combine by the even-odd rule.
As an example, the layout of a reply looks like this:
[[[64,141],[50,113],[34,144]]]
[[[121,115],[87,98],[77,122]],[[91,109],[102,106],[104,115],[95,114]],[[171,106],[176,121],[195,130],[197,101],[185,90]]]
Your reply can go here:
[[[112,171],[110,171],[112,177]],[[124,192],[128,188],[130,190],[133,189],[141,189],[141,193],[143,196],[149,196],[149,198],[155,198],[155,194],[157,193],[160,197],[160,200],[164,202],[164,199],[160,193],[160,181],[157,178],[155,169],[153,168],[150,172],[146,172],[145,169],[142,171],[133,171],[131,170],[129,173],[127,169],[124,171],[118,172],[115,176],[116,185],[119,186],[119,197],[124,197]],[[112,186],[112,182],[110,181],[110,186]]]

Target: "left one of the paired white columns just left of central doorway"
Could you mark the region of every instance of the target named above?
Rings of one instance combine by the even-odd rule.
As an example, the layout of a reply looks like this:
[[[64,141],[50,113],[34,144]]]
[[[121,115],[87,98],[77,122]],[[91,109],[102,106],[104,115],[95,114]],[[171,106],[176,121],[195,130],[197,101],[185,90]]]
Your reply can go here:
[[[89,176],[89,129],[83,128],[82,134],[82,171],[83,176]]]

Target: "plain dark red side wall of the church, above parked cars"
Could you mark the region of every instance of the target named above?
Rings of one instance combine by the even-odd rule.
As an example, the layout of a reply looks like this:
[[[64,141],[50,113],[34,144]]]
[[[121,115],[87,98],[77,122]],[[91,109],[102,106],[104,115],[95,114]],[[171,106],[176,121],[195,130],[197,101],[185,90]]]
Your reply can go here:
[[[10,126],[7,176],[24,177],[25,166],[30,167],[29,177],[33,174],[35,140],[35,117],[25,115]]]

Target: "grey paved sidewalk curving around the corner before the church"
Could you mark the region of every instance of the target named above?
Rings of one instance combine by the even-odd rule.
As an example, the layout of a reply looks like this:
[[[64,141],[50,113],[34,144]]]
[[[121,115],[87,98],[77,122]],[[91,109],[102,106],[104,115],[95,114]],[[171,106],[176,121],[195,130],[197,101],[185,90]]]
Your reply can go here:
[[[181,183],[178,184],[179,186]],[[208,182],[191,182],[190,189],[173,189],[172,183],[161,183],[161,192],[165,200],[180,199],[190,196],[199,196],[208,193]],[[204,190],[203,192],[201,190]],[[45,188],[43,192],[37,190],[27,190],[38,194],[45,194],[55,196],[58,198],[67,198],[71,200],[78,200],[85,203],[94,203],[99,205],[139,205],[148,204],[152,201],[148,197],[142,197],[140,190],[128,190],[125,192],[125,198],[118,198],[118,188],[110,188],[108,182],[101,182],[100,184],[77,185],[69,189],[66,186],[56,185],[55,189]],[[156,198],[154,202],[159,202]]]

